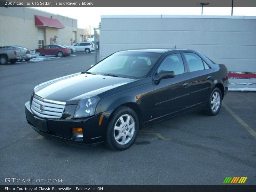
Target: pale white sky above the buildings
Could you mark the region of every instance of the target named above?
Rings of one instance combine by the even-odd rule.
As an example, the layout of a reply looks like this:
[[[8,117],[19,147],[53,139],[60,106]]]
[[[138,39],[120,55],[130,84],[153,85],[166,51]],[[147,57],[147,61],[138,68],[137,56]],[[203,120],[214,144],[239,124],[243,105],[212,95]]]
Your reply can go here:
[[[101,15],[201,15],[201,7],[34,7],[77,20],[78,28],[98,27]],[[203,15],[231,15],[231,7],[204,7]],[[256,7],[234,7],[233,15],[256,16]]]

